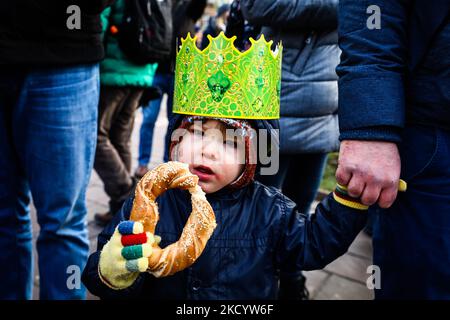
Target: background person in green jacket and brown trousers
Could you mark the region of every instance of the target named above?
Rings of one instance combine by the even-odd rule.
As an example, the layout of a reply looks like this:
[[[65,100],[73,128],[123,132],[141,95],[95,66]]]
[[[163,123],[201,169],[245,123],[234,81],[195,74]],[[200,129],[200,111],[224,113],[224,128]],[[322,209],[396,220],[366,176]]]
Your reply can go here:
[[[153,83],[157,64],[138,65],[122,52],[118,26],[123,19],[125,2],[117,0],[102,13],[106,57],[100,64],[100,103],[98,138],[94,168],[109,196],[109,210],[97,213],[95,220],[106,225],[122,207],[134,188],[131,173],[130,138],[134,112],[145,88]]]

